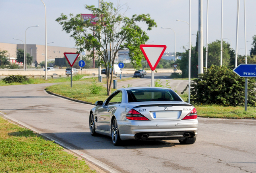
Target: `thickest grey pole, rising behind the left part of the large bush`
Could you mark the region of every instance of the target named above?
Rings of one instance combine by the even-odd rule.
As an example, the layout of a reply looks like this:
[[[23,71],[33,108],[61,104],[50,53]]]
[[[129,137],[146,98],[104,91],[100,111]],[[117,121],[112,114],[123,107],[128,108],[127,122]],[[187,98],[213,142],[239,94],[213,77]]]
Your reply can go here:
[[[202,16],[202,0],[198,0],[199,12],[198,12],[198,74],[204,73],[204,43],[203,43],[203,16]]]

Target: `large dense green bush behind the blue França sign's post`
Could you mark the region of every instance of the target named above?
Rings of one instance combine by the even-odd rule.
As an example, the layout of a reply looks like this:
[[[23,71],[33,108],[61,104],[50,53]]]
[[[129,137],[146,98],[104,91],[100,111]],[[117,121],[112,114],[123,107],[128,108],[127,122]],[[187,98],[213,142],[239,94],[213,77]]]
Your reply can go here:
[[[245,78],[226,66],[211,66],[191,82],[191,102],[242,106],[245,101]],[[248,105],[256,105],[256,83],[248,78]],[[186,89],[185,89],[186,90]],[[185,91],[184,90],[184,91]],[[184,92],[183,91],[183,92]]]

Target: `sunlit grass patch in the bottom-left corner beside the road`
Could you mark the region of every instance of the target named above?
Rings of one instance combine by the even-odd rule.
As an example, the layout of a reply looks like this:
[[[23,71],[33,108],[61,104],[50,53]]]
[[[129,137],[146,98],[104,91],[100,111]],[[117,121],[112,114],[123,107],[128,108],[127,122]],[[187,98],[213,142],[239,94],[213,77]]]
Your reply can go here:
[[[28,129],[0,117],[0,172],[95,173],[85,161]]]

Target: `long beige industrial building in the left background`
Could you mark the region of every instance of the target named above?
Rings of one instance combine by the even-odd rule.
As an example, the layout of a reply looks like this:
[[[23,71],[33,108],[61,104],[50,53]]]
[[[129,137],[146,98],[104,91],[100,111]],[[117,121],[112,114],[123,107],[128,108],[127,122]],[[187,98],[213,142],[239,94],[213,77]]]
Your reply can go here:
[[[0,43],[0,50],[7,50],[7,57],[11,62],[17,58],[17,49],[24,50],[24,44]],[[59,46],[47,46],[47,61],[55,61],[55,58],[63,58],[64,52],[76,52],[76,48]],[[45,61],[45,45],[27,44],[27,53],[33,56],[32,63]]]

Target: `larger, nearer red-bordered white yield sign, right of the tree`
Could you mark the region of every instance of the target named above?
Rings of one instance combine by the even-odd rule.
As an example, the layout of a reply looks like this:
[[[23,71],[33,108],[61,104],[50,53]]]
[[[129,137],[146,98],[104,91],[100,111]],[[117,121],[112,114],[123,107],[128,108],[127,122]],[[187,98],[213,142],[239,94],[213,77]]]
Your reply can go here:
[[[165,52],[165,45],[140,44],[140,49],[145,56],[151,70],[155,70],[158,62]]]

